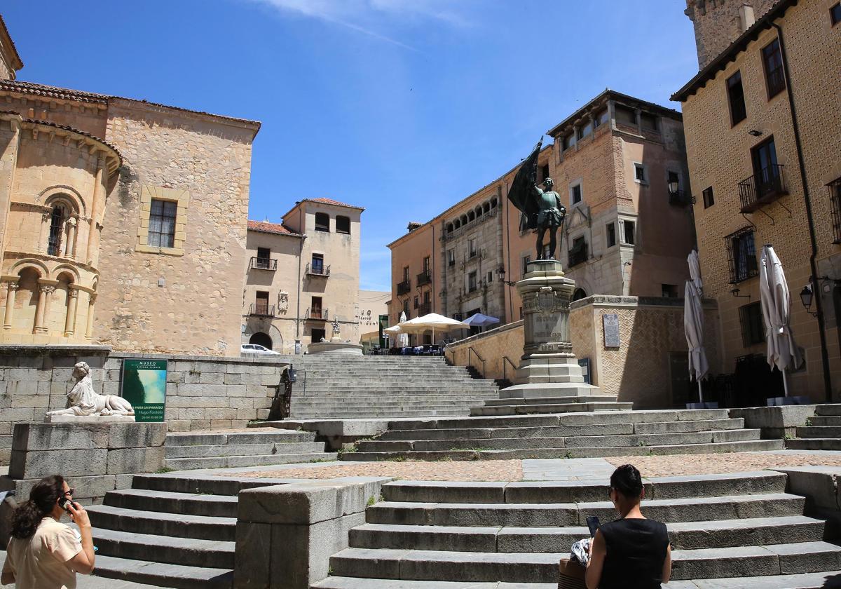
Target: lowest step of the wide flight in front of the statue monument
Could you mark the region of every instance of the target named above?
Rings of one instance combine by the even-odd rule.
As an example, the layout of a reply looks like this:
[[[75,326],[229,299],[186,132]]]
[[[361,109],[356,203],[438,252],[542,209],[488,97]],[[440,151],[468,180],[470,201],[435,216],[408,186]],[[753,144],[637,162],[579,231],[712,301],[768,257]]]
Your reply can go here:
[[[569,438],[574,439],[574,438]],[[790,440],[794,442],[796,440]],[[397,443],[397,442],[394,442]],[[595,446],[590,448],[485,449],[479,441],[470,450],[400,450],[342,454],[343,460],[508,460],[600,458],[605,456],[662,456],[669,454],[715,454],[717,452],[764,452],[785,448],[783,440],[744,440],[737,442],[674,444],[663,446]]]

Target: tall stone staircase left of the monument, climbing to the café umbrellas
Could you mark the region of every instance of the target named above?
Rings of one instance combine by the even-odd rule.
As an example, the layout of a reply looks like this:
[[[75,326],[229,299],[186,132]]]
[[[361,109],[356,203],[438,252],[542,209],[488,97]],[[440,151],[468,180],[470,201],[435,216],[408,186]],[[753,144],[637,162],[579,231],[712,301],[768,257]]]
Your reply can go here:
[[[499,398],[493,380],[473,379],[442,357],[308,354],[288,358],[298,370],[291,417],[467,416]]]

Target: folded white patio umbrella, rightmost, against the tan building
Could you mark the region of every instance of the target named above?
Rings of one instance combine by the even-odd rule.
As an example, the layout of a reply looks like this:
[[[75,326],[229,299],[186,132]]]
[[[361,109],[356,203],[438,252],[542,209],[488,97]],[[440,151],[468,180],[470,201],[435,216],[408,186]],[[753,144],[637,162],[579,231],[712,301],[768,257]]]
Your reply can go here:
[[[803,353],[795,342],[789,326],[791,316],[791,294],[780,258],[774,248],[764,246],[759,257],[759,300],[768,344],[768,363],[783,373],[783,387],[788,396],[787,369],[797,368],[803,363]]]

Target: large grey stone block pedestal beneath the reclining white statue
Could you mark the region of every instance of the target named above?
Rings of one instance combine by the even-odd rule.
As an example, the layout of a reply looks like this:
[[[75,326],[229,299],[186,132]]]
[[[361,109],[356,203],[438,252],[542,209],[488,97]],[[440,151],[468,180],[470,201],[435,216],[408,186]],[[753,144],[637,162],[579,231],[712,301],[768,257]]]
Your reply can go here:
[[[76,489],[73,498],[82,505],[91,505],[101,503],[108,491],[130,488],[135,474],[163,468],[166,423],[104,421],[108,417],[87,419],[87,422],[15,424],[12,459],[8,475],[0,476],[0,492],[15,491],[15,499],[23,502],[40,479],[61,475]],[[3,546],[8,540],[6,523],[0,517],[0,545]]]

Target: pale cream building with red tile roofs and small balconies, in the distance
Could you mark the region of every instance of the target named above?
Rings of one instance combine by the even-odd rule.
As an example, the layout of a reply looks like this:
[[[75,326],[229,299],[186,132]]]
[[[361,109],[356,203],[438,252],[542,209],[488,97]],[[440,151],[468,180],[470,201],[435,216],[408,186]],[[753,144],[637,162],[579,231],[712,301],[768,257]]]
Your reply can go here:
[[[333,335],[359,342],[362,207],[304,199],[282,223],[248,222],[242,343],[294,353]],[[362,331],[367,331],[364,328]]]

